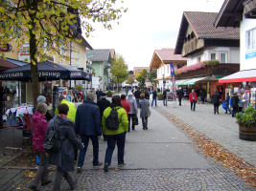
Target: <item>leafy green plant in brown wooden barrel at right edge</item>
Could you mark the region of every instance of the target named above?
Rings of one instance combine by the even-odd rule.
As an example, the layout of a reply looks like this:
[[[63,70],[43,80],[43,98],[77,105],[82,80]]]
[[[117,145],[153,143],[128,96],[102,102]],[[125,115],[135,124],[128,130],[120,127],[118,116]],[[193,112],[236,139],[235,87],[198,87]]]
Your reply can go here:
[[[256,140],[256,110],[250,105],[244,112],[236,115],[239,124],[239,138],[244,140]]]

